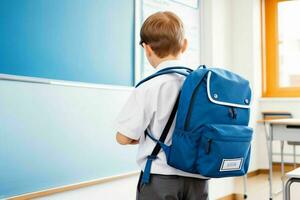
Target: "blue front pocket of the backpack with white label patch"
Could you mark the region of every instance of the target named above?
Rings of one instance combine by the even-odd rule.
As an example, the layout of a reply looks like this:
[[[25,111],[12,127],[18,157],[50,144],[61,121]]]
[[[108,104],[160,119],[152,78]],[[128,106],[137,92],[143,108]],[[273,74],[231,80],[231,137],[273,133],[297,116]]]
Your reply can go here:
[[[204,125],[196,163],[199,174],[221,178],[247,173],[252,129],[239,125]]]

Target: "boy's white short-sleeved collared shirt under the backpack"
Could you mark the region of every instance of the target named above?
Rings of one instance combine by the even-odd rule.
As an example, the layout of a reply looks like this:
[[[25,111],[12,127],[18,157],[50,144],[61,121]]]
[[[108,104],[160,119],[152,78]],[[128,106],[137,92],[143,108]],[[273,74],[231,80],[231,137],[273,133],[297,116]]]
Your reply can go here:
[[[166,67],[184,66],[179,60],[169,60],[160,63],[157,70]],[[166,74],[155,77],[135,88],[116,120],[117,131],[125,136],[139,140],[137,163],[144,170],[147,156],[153,151],[156,142],[144,131],[147,129],[156,139],[159,139],[175,104],[185,77],[178,74]],[[171,126],[165,144],[171,144],[176,118]],[[161,150],[157,159],[152,162],[151,173],[165,175],[180,175],[203,178],[200,175],[175,169],[167,164],[166,155]]]

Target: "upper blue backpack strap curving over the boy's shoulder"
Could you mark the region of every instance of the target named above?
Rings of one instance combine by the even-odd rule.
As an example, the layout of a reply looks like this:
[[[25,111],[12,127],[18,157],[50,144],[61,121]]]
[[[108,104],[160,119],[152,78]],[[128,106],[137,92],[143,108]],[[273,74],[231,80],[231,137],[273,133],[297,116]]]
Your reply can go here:
[[[146,77],[145,79],[141,80],[135,87],[137,88],[138,86],[145,83],[146,81],[149,81],[150,79],[155,78],[155,77],[160,76],[160,75],[176,73],[176,74],[180,74],[180,75],[183,75],[183,76],[188,76],[192,71],[193,71],[192,69],[187,68],[187,67],[180,67],[180,66],[167,67],[167,68],[161,69],[158,72],[156,72],[156,73]]]

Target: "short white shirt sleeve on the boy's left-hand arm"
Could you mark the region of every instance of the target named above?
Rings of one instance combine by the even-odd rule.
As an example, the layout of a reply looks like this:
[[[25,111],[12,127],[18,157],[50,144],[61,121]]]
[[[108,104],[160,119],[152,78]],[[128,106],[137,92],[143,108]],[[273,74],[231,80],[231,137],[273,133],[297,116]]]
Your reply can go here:
[[[123,135],[138,140],[147,129],[153,111],[147,102],[147,91],[135,88],[116,119],[116,129]]]

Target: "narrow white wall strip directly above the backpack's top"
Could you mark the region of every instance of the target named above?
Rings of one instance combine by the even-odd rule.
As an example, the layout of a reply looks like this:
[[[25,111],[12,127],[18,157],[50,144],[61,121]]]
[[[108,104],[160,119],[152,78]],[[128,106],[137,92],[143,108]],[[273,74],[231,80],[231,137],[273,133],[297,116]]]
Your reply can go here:
[[[208,66],[231,66],[231,0],[203,0],[202,12],[201,62]]]

